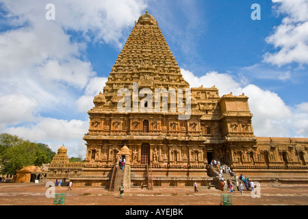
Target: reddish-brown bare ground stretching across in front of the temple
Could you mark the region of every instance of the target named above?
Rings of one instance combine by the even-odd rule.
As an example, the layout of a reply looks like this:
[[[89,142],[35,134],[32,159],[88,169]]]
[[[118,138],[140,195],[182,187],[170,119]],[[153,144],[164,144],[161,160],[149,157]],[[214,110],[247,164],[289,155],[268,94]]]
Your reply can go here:
[[[53,205],[47,198],[46,183],[0,183],[0,205]],[[220,205],[220,194],[230,194],[214,188],[153,188],[153,190],[125,189],[124,197],[119,192],[105,188],[55,187],[55,193],[66,194],[66,205]],[[233,205],[308,205],[308,187],[261,187],[260,198],[251,192],[232,193]]]

